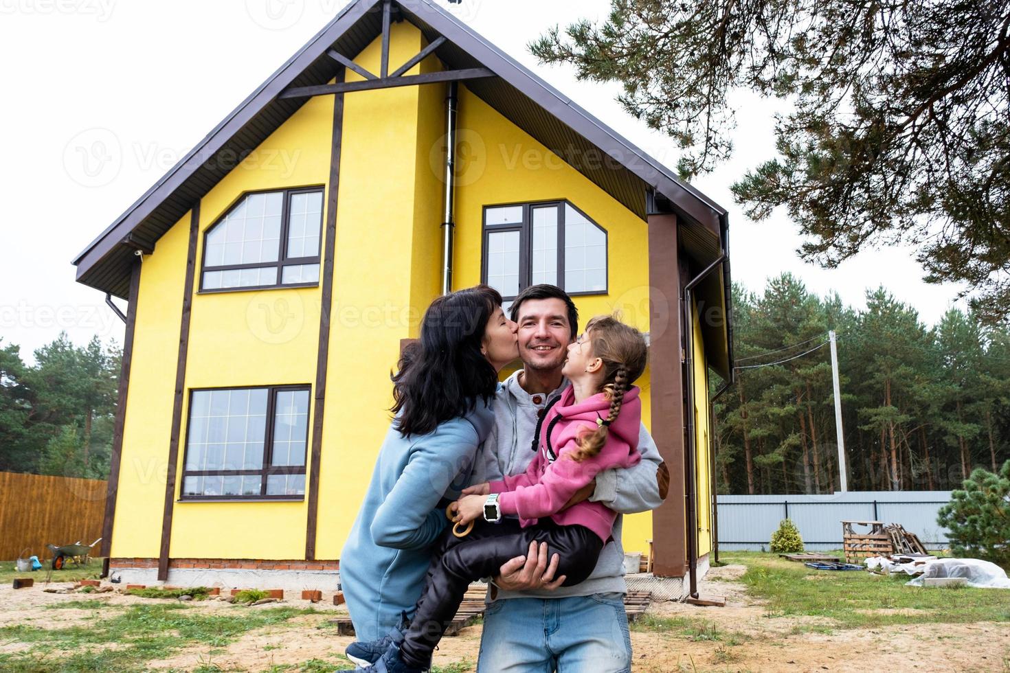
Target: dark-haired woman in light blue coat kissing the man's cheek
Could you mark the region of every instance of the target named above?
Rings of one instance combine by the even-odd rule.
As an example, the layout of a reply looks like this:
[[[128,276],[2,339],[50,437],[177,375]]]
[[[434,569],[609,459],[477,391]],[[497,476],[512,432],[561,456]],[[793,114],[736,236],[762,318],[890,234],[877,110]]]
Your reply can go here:
[[[445,506],[468,485],[493,421],[498,371],[518,356],[516,325],[487,286],[439,297],[393,376],[395,413],[365,502],[340,553],[340,583],[358,643],[377,657],[420,596]],[[357,648],[357,649],[356,649]]]

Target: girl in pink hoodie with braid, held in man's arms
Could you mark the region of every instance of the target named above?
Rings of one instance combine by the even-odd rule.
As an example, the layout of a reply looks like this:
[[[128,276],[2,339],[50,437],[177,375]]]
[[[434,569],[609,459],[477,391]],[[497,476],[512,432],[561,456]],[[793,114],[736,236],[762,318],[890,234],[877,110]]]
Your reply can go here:
[[[562,373],[571,385],[537,428],[536,457],[523,474],[463,491],[451,506],[453,522],[477,526],[462,539],[443,536],[403,641],[368,670],[426,670],[470,582],[493,576],[502,563],[523,555],[531,541],[546,542],[548,553],[560,554],[558,572],[567,576],[565,586],[590,575],[617,515],[588,500],[562,508],[597,472],[630,467],[640,459],[641,402],[631,383],[645,360],[645,340],[637,330],[609,316],[589,322],[586,333],[569,345]],[[502,518],[507,515],[519,519]]]

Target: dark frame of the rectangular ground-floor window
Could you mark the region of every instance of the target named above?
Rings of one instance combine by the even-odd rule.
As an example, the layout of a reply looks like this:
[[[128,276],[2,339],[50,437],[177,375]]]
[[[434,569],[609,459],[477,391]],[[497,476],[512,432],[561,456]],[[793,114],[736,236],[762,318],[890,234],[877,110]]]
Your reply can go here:
[[[189,435],[193,423],[193,394],[208,390],[267,390],[267,427],[264,429],[264,457],[262,469],[252,470],[187,470],[186,461],[189,458]],[[274,465],[274,424],[277,412],[277,394],[283,390],[305,390],[309,394],[308,415],[305,419],[305,464],[304,465]],[[183,444],[183,465],[179,479],[179,502],[190,501],[263,501],[280,500],[287,502],[301,502],[305,499],[305,493],[301,495],[268,495],[268,478],[275,474],[304,474],[306,475],[305,491],[308,491],[308,462],[310,449],[312,446],[312,386],[308,383],[290,383],[281,385],[217,385],[208,387],[193,387],[189,390],[187,402],[186,436]],[[184,492],[186,477],[188,476],[256,476],[260,475],[260,492],[256,495],[186,495]]]

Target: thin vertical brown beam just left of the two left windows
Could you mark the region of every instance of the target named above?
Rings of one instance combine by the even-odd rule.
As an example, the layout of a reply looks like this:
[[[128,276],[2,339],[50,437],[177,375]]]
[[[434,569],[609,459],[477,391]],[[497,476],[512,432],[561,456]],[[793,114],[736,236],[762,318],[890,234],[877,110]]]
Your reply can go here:
[[[189,352],[189,324],[193,307],[193,277],[196,275],[196,240],[200,229],[200,201],[190,210],[189,248],[186,252],[186,282],[183,288],[183,315],[179,327],[179,358],[176,361],[176,391],[169,435],[169,467],[165,479],[165,510],[162,516],[162,547],[158,557],[158,579],[169,578],[169,548],[172,544],[172,514],[176,501],[179,472],[179,435],[183,423],[183,395],[186,389],[186,356]]]

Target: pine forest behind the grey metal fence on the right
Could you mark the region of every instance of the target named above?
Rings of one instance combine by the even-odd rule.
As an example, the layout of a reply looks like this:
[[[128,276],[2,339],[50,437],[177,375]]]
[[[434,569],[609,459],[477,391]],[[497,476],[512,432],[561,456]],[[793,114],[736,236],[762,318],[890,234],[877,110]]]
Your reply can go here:
[[[763,294],[734,287],[733,317],[737,382],[714,406],[719,492],[838,488],[829,330],[849,490],[957,488],[1010,458],[1005,323],[950,309],[930,327],[884,288],[857,311],[789,273]]]

